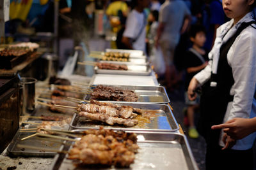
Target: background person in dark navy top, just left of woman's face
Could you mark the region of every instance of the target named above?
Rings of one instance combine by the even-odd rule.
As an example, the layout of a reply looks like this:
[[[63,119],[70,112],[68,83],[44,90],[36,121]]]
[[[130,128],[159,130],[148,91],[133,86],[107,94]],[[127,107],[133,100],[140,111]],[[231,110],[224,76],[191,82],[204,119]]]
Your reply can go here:
[[[216,38],[216,30],[225,22],[225,13],[219,0],[205,0],[202,10],[202,24],[206,29],[205,48],[210,51]]]

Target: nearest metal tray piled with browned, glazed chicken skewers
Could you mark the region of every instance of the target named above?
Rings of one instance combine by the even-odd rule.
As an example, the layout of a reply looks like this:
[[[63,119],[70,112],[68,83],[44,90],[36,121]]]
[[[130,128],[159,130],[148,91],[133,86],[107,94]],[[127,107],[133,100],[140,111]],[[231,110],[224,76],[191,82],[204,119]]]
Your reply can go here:
[[[81,135],[59,151],[51,169],[198,169],[182,134],[102,128],[72,132]]]

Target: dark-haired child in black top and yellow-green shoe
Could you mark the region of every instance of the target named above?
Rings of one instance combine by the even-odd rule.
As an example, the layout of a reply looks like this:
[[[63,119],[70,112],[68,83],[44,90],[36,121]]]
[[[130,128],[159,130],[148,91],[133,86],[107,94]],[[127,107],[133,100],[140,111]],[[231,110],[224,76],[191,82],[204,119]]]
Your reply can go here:
[[[196,73],[204,69],[204,67],[206,67],[208,63],[207,52],[205,52],[203,48],[206,41],[204,27],[202,25],[192,25],[189,33],[189,39],[191,40],[193,45],[191,48],[189,48],[185,57],[185,103],[187,105],[186,113],[188,116],[189,137],[198,138],[199,134],[195,128],[194,113],[195,110],[199,108],[200,97],[198,96],[195,101],[189,101],[187,90],[191,78],[193,78]]]

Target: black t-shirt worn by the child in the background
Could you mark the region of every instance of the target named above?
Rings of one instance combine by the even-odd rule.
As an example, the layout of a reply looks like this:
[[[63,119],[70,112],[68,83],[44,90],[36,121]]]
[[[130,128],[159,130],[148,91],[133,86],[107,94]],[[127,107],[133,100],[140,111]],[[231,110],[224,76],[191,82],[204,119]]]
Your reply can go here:
[[[198,72],[201,71],[200,70],[200,71],[196,71],[193,73],[188,73],[187,68],[201,66],[202,64],[204,64],[205,61],[209,60],[207,52],[205,52],[205,55],[200,55],[202,57],[202,59],[200,59],[200,57],[198,57],[198,55],[200,55],[200,54],[197,52],[197,55],[196,55],[195,50],[193,48],[190,48],[188,50],[188,52],[186,53],[186,57],[184,60],[185,61],[184,66],[185,66],[185,70],[186,70],[185,90],[188,90],[189,82],[193,78],[193,76],[195,76],[195,74],[197,74]]]

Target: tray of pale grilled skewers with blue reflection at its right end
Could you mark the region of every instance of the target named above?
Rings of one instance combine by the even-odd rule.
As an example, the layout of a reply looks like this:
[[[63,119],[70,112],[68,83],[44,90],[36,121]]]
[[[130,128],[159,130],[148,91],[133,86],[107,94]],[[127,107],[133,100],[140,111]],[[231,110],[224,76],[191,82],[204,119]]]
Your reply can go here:
[[[67,106],[63,106],[67,107]],[[86,101],[72,107],[76,110],[70,126],[74,129],[130,129],[132,131],[178,131],[170,106],[150,103],[115,103]]]

